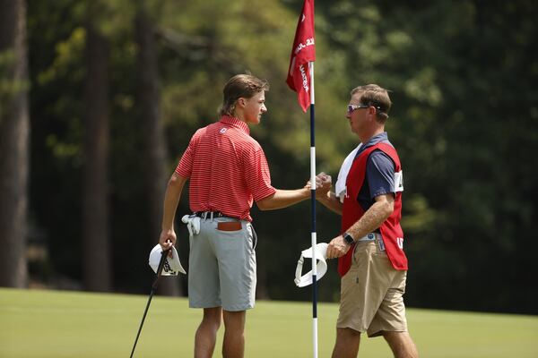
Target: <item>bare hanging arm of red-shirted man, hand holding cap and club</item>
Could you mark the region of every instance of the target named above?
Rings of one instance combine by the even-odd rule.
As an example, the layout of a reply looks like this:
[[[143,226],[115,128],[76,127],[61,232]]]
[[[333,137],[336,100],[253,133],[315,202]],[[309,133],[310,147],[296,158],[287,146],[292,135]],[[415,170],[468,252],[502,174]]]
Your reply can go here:
[[[187,183],[187,178],[177,173],[170,176],[166,193],[164,194],[161,236],[159,237],[162,250],[168,250],[176,244],[174,217],[176,217],[176,209],[178,209],[179,199],[181,198],[181,192],[185,183]]]

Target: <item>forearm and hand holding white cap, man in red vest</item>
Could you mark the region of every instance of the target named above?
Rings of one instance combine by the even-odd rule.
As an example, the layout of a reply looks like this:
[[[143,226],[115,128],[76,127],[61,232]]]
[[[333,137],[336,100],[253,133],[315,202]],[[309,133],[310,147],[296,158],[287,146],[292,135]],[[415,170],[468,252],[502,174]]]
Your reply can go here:
[[[355,242],[381,226],[395,209],[395,195],[393,193],[379,195],[374,200],[374,204],[346,231]],[[343,240],[342,235],[334,237],[327,246],[327,259],[335,259],[345,255],[350,247],[351,245]]]

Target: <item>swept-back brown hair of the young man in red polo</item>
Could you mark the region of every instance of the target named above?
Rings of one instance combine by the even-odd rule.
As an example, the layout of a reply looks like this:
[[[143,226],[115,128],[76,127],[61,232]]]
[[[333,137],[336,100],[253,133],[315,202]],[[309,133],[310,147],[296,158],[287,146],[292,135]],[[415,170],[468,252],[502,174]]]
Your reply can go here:
[[[269,90],[269,82],[260,80],[251,74],[236,74],[224,86],[222,90],[222,106],[219,110],[221,115],[233,115],[236,102],[239,98],[252,98],[262,90]]]

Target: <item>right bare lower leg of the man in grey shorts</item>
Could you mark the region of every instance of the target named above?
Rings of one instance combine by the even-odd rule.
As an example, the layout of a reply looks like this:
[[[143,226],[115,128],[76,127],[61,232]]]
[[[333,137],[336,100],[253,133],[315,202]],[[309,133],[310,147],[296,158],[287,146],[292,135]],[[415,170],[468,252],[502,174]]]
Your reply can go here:
[[[223,311],[224,342],[222,357],[243,358],[245,354],[245,320],[247,311]]]

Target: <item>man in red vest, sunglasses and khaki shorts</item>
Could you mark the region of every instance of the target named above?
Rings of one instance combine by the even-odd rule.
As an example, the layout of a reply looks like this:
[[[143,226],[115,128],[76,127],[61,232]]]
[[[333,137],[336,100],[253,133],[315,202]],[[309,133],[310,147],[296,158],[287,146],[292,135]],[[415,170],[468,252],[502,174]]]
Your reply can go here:
[[[334,358],[355,358],[362,332],[385,337],[397,358],[418,357],[405,318],[404,184],[385,132],[390,107],[387,91],[377,85],[351,91],[346,117],[363,144],[345,180],[343,202],[334,192],[319,199],[342,215],[342,234],[327,247],[327,259],[339,258],[342,277]],[[330,176],[321,176],[330,182]]]

